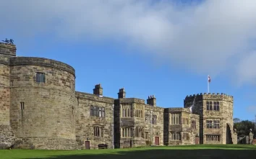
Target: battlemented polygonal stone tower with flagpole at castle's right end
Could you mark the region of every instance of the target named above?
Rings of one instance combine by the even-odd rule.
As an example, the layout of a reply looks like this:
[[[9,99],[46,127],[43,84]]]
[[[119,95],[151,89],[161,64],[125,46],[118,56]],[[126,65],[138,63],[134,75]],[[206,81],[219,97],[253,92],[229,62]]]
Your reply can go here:
[[[195,106],[192,106],[195,101]],[[184,99],[184,108],[200,115],[201,144],[236,144],[233,131],[233,96],[226,94],[194,94]]]

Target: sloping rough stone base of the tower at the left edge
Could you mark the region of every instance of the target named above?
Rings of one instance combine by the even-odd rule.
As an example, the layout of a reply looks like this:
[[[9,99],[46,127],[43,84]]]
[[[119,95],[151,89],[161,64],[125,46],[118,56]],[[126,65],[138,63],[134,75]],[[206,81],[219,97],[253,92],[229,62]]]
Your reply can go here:
[[[0,125],[0,149],[7,149],[14,145],[15,135],[9,125]]]

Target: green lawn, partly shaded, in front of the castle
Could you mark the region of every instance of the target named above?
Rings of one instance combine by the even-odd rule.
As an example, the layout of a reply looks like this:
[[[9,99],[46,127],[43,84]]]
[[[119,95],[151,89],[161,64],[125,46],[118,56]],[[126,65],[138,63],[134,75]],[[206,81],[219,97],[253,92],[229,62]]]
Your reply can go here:
[[[116,150],[0,150],[1,159],[245,159],[255,157],[255,145],[188,145],[173,147],[144,147]]]

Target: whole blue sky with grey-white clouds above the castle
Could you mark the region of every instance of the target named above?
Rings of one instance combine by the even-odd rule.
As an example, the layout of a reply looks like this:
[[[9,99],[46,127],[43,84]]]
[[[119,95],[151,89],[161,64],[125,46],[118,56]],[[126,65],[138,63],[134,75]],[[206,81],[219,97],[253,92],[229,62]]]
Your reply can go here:
[[[187,95],[234,96],[234,117],[256,114],[255,0],[0,0],[0,38],[18,56],[59,60],[76,90],[117,98],[155,95],[162,107]]]

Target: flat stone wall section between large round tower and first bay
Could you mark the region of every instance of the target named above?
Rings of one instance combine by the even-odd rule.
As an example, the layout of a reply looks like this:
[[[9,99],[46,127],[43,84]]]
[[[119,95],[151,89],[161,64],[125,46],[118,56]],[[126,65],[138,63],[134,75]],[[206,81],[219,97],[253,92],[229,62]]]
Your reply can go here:
[[[85,142],[90,142],[90,149],[98,149],[98,145],[113,147],[113,109],[114,99],[100,97],[95,94],[76,92],[78,106],[76,111],[76,140],[80,149],[85,149]],[[93,116],[91,106],[104,108],[104,117]],[[100,135],[95,134],[96,127],[101,128]]]

